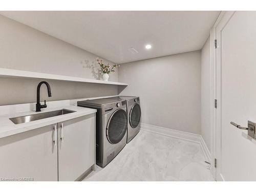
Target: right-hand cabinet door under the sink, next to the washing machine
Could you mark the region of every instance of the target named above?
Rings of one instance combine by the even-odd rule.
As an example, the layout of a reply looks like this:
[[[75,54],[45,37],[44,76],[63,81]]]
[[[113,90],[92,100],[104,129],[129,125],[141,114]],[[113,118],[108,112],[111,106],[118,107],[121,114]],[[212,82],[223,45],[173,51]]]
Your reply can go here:
[[[58,123],[58,178],[75,181],[95,163],[95,114]]]

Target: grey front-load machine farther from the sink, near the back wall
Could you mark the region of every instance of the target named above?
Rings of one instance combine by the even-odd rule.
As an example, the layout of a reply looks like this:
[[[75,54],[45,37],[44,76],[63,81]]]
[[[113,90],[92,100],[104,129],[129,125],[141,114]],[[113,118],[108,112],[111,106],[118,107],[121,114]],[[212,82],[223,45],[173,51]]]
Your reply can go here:
[[[118,96],[111,98],[126,101],[127,115],[129,119],[127,127],[127,143],[129,143],[140,131],[140,98],[135,96]]]

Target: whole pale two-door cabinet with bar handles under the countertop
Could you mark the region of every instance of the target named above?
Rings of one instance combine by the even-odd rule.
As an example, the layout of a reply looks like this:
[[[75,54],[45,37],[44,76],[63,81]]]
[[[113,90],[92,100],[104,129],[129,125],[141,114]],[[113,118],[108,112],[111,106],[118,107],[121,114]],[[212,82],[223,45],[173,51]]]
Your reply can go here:
[[[0,139],[0,181],[74,181],[94,166],[95,114]]]

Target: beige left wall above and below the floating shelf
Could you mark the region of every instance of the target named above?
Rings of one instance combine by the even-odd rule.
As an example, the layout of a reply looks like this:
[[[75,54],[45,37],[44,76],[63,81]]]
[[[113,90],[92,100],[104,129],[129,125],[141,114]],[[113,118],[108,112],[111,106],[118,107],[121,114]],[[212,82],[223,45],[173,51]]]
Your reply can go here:
[[[99,79],[96,55],[2,15],[0,24],[0,68]],[[118,81],[118,74],[111,74],[110,80]],[[40,79],[0,78],[0,105],[35,102],[38,82]],[[52,97],[42,90],[41,100],[118,94],[118,86],[49,82]]]

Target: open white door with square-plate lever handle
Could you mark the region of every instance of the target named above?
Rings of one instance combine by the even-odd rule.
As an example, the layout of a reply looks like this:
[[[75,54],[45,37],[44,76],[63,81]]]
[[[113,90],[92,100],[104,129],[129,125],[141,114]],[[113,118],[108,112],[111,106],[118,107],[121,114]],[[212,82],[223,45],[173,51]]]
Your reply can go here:
[[[231,121],[256,122],[256,12],[226,12],[217,35],[217,180],[256,181],[256,140]]]

